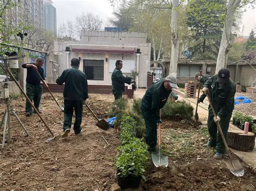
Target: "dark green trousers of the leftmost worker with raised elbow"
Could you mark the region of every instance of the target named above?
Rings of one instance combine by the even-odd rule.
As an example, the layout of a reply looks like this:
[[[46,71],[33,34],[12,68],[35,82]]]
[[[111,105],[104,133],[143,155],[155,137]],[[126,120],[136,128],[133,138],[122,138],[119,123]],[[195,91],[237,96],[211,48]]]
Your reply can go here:
[[[26,95],[29,97],[31,102],[34,102],[35,108],[39,111],[39,104],[43,93],[43,87],[41,85],[32,85],[26,83]],[[26,100],[26,112],[32,114],[32,107]]]

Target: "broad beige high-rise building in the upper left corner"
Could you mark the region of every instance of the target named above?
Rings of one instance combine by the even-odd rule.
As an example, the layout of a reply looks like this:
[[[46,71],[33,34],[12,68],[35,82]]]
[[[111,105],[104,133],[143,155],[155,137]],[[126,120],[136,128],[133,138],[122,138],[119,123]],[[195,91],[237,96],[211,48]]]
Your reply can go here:
[[[5,4],[8,0],[3,0]],[[12,0],[15,6],[8,11],[7,18],[15,25],[23,22],[39,29],[44,26],[43,0]]]

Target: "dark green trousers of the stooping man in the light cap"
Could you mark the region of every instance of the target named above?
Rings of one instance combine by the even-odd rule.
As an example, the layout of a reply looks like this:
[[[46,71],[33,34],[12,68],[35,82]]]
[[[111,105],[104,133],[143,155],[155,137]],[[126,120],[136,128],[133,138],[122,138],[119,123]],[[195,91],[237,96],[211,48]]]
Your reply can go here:
[[[143,105],[140,107],[142,109],[142,114],[144,117],[146,125],[146,143],[149,145],[149,150],[154,150],[157,146],[157,119],[147,111]]]

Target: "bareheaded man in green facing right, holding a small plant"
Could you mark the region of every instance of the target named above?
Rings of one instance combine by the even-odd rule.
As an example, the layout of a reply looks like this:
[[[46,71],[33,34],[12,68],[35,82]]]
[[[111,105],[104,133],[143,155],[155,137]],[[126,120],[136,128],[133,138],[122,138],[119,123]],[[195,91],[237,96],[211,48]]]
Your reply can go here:
[[[121,69],[123,68],[123,61],[116,61],[116,68],[114,68],[111,75],[112,80],[112,93],[114,94],[114,101],[122,98],[124,92],[124,83],[131,84],[133,83],[131,77],[123,76]]]

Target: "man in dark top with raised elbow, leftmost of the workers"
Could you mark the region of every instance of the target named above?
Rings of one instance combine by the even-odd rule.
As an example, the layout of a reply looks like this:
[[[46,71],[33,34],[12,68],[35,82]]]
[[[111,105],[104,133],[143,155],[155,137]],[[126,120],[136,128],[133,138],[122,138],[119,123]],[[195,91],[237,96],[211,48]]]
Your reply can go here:
[[[36,70],[41,75],[42,79],[45,82],[44,78],[44,69],[42,66],[44,65],[44,59],[39,57],[36,59],[35,63],[23,63],[22,67],[27,69],[26,74],[26,95],[29,97],[30,101],[34,102],[35,108],[42,114],[41,110],[39,110],[39,104],[41,101],[43,87],[41,86],[41,78],[38,76]],[[47,83],[44,83],[44,86],[48,87]],[[29,104],[28,100],[26,100],[26,117],[32,115],[32,107]],[[33,111],[35,112],[35,111]]]

